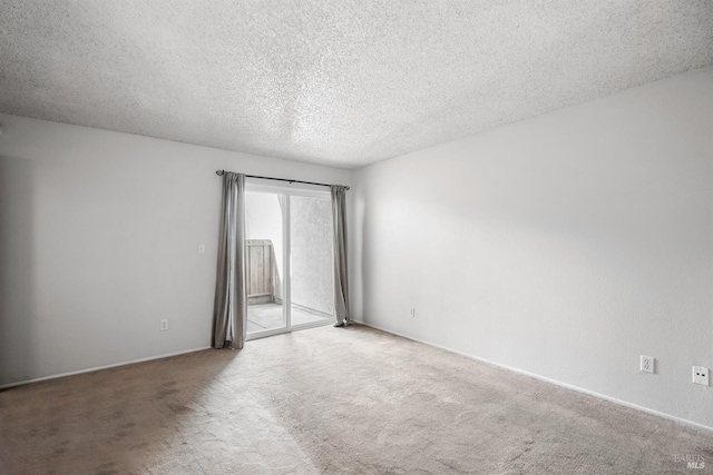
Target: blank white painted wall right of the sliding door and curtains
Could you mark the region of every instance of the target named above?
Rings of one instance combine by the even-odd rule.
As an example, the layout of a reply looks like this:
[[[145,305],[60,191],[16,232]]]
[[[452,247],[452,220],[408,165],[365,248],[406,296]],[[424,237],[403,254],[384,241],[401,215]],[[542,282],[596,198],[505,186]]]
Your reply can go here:
[[[356,319],[713,427],[712,137],[707,68],[356,170]]]

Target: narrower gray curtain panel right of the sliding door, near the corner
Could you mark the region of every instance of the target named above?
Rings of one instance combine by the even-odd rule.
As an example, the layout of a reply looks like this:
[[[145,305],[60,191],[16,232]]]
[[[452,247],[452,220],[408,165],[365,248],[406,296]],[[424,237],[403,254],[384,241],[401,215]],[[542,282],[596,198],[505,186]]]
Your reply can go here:
[[[334,248],[334,310],[335,327],[348,326],[351,320],[349,313],[349,283],[346,281],[346,188],[332,186],[332,225]]]

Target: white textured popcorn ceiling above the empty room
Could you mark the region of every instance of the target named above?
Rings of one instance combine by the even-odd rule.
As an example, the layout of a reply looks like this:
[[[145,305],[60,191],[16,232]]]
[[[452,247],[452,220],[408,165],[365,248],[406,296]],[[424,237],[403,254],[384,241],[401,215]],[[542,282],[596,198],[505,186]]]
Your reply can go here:
[[[713,63],[711,0],[0,0],[0,111],[352,168]]]

